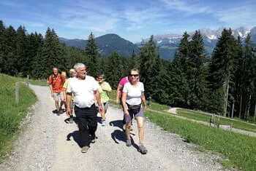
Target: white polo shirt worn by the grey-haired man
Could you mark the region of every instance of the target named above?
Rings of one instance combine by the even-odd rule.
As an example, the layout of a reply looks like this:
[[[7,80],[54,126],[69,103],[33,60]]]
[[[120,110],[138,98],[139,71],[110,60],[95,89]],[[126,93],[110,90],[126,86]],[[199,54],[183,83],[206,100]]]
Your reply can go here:
[[[73,77],[69,79],[67,92],[74,94],[74,103],[78,108],[90,108],[94,104],[94,91],[97,90],[98,83],[92,76],[86,79]]]

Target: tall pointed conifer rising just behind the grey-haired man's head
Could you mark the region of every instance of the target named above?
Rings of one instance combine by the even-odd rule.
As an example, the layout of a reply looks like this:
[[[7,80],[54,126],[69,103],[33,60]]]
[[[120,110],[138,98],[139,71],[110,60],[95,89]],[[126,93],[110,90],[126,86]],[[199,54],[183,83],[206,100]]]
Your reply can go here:
[[[86,65],[86,69],[89,75],[94,76],[95,74],[99,73],[99,59],[97,44],[92,33],[89,36],[85,52],[86,56],[89,57],[89,63]]]

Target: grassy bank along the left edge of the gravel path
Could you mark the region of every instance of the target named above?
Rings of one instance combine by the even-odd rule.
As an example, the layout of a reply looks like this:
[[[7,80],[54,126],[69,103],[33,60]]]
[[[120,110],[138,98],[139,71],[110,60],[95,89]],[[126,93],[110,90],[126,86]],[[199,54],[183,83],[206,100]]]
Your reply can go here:
[[[0,156],[11,150],[20,122],[26,117],[29,107],[37,100],[34,92],[19,84],[19,104],[15,103],[15,83],[26,79],[0,73]]]

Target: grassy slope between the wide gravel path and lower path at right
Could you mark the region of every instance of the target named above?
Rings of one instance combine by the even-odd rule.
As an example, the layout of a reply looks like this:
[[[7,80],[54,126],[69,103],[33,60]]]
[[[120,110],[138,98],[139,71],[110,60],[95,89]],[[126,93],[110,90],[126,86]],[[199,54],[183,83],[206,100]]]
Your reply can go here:
[[[202,150],[211,150],[227,157],[228,161],[222,161],[225,167],[256,170],[256,138],[178,119],[170,114],[146,111],[145,115],[164,130],[181,135]]]

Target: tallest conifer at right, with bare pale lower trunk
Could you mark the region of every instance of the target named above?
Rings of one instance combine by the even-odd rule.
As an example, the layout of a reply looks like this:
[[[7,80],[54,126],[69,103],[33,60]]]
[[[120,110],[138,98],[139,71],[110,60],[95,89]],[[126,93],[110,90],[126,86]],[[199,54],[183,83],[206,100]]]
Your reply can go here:
[[[222,89],[224,97],[223,115],[227,114],[229,90],[233,81],[236,62],[236,40],[232,35],[231,29],[222,31],[217,46],[214,48],[210,65],[210,84],[213,90]],[[217,99],[218,100],[218,99]],[[221,106],[219,106],[220,108]]]

